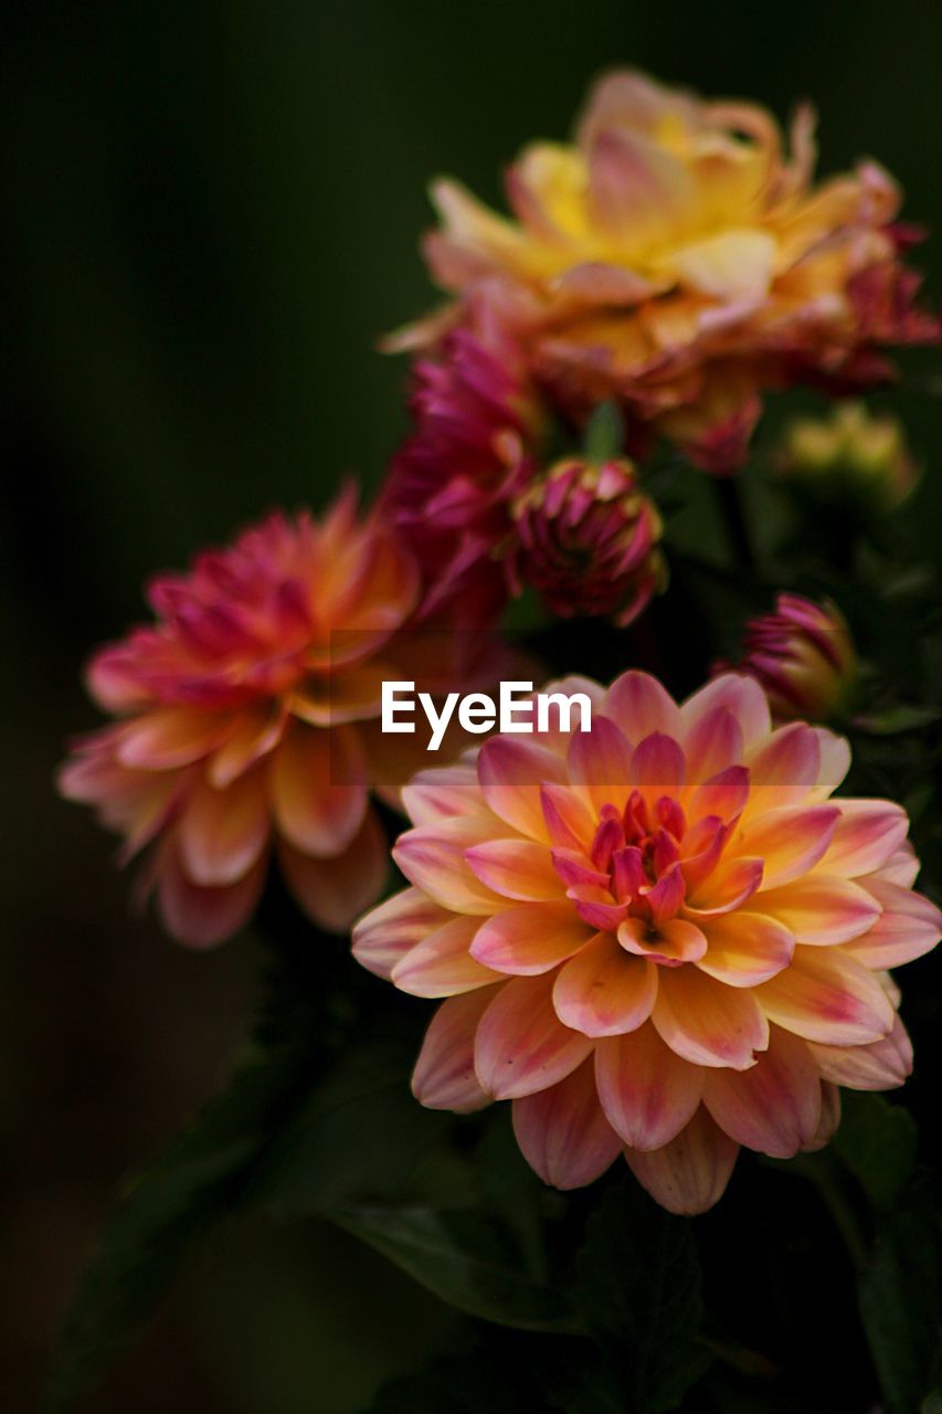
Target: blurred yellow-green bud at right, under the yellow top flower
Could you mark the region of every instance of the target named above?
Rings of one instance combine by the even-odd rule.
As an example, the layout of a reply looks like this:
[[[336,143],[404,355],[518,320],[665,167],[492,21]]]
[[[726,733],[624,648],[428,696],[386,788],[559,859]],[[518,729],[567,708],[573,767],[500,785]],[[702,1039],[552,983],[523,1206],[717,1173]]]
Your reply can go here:
[[[829,417],[799,417],[785,428],[779,471],[818,502],[894,510],[919,479],[901,423],[863,403],[839,403]]]

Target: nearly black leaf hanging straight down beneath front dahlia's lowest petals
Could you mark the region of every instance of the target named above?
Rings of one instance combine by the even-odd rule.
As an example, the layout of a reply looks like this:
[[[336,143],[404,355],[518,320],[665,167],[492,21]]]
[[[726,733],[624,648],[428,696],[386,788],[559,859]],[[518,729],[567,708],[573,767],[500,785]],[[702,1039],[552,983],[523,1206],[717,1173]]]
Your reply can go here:
[[[588,1222],[578,1304],[618,1370],[631,1414],[676,1408],[710,1365],[693,1227],[636,1185],[610,1188]]]

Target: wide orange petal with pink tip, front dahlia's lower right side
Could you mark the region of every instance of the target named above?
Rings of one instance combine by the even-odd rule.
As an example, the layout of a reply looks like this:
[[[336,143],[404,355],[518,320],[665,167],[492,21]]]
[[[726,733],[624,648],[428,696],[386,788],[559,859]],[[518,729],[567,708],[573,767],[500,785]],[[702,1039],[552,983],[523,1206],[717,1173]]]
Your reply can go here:
[[[837,947],[796,947],[791,967],[754,995],[769,1021],[823,1045],[867,1045],[892,1027],[877,977]]]

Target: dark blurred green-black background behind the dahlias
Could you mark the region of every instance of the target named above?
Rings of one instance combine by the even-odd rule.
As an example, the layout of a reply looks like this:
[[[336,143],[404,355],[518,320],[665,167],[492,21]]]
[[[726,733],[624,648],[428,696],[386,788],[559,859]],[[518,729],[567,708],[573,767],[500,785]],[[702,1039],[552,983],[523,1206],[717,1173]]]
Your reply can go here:
[[[429,177],[498,199],[600,68],[779,117],[812,98],[822,170],[878,157],[936,229],[917,263],[938,297],[942,8],[23,0],[4,30],[0,1403],[20,1414],[100,1219],[222,1083],[256,1000],[252,939],[190,954],[133,918],[112,841],[54,796],[96,720],[85,653],[154,570],[347,471],[376,482],[405,366],[375,342],[431,301]],[[929,393],[894,406],[931,458]],[[907,515],[931,556],[926,482]],[[233,1223],[88,1410],[352,1414],[448,1326],[334,1230]]]

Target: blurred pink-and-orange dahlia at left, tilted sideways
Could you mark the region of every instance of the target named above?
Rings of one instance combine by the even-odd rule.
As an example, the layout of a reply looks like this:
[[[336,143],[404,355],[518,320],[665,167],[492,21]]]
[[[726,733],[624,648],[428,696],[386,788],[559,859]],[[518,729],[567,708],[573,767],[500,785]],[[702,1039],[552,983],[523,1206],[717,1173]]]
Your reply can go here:
[[[412,559],[375,516],[358,520],[348,489],[320,523],[276,512],[156,580],[157,622],[95,655],[91,694],[119,720],[76,744],[59,785],[124,837],[122,861],[149,848],[144,892],[181,942],[209,946],[246,922],[273,848],[327,928],[378,896],[388,846],[368,797],[369,728],[382,679],[399,674],[376,655],[417,588]]]

